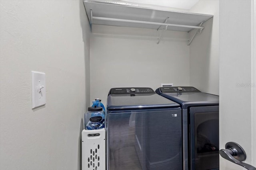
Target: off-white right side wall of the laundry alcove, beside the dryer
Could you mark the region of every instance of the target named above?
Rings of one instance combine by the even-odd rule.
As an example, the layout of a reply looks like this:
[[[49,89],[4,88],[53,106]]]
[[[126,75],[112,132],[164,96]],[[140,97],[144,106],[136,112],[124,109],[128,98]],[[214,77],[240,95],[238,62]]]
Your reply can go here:
[[[201,34],[190,44],[190,86],[202,92],[219,94],[219,1],[200,0],[190,12],[210,14]],[[189,33],[190,37],[194,34]]]

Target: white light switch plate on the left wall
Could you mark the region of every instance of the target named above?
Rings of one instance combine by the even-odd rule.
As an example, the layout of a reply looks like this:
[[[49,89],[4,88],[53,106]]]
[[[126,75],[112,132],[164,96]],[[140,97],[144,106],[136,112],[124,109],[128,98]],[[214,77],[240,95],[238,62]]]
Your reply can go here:
[[[31,71],[32,109],[46,104],[45,73]]]

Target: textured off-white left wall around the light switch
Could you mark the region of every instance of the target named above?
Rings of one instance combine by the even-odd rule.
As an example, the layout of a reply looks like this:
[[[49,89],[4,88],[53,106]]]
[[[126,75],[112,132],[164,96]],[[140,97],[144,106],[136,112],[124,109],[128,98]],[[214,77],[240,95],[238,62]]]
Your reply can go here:
[[[80,170],[90,103],[82,1],[0,1],[0,169]],[[31,71],[46,73],[46,106],[31,109]]]

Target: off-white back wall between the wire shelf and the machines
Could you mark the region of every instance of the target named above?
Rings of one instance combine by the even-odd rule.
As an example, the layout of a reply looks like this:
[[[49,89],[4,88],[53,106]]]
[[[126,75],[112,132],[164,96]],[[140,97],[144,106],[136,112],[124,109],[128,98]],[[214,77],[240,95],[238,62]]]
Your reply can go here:
[[[186,32],[93,25],[90,37],[91,100],[106,103],[110,88],[189,85]]]

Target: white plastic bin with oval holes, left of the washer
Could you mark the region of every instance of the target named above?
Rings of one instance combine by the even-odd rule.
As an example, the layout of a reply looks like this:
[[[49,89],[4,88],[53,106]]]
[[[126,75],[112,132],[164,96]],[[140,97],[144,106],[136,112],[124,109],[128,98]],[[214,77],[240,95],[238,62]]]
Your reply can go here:
[[[106,170],[106,130],[82,131],[82,170]]]

